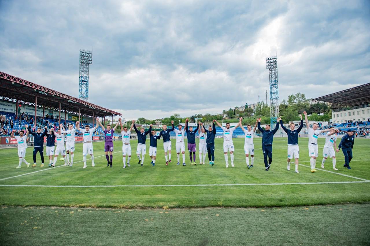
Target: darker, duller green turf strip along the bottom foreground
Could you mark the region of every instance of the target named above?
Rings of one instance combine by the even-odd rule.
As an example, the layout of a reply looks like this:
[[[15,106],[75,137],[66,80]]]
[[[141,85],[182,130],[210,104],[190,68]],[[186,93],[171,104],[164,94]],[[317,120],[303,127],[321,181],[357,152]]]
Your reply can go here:
[[[285,208],[2,207],[1,245],[369,245],[370,204]]]

